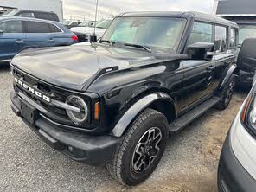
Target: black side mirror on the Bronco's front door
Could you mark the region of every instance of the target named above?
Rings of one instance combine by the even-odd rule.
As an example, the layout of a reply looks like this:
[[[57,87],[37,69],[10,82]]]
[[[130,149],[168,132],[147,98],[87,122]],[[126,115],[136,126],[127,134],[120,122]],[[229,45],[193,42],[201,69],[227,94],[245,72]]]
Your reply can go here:
[[[214,56],[214,43],[196,42],[189,45],[188,54],[192,60],[211,61]]]

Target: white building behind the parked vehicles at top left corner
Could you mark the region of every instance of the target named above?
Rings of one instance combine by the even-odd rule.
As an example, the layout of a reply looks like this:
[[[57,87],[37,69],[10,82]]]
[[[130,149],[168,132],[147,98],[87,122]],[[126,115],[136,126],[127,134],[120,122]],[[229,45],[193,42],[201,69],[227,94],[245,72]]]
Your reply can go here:
[[[10,9],[54,11],[63,21],[62,0],[1,0],[0,7],[0,12]]]

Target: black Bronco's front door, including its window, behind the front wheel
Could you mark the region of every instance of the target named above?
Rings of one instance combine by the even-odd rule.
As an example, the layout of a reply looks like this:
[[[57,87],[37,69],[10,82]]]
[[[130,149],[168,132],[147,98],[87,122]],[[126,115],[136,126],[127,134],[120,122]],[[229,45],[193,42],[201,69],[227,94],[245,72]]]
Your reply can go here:
[[[214,42],[214,25],[207,22],[195,22],[192,29],[189,45],[196,42]],[[201,103],[214,92],[216,80],[214,77],[215,61],[182,61],[184,67],[185,98],[182,110]]]

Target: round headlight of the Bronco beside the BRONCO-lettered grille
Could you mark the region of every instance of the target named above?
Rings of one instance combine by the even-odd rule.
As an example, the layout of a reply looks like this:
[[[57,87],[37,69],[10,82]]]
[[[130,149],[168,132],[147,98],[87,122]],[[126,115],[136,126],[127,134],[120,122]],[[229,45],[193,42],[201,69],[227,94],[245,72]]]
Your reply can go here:
[[[66,103],[69,106],[74,106],[80,109],[80,112],[77,112],[76,110],[67,109],[66,111],[68,117],[74,123],[84,123],[88,116],[88,107],[86,105],[86,102],[78,96],[71,95],[67,98]]]

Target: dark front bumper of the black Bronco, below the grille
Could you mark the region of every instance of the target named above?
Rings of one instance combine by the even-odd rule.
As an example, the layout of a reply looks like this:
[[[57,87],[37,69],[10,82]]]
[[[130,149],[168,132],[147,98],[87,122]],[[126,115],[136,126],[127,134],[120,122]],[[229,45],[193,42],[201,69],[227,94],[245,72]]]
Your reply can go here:
[[[22,103],[25,100],[19,98],[15,92],[10,94],[11,108],[32,131],[42,138],[47,144],[63,154],[88,164],[106,164],[112,157],[118,145],[118,138],[112,136],[89,136],[85,133],[63,130],[50,119],[43,118],[39,113],[38,118],[22,117]],[[29,105],[29,103],[28,103]]]

